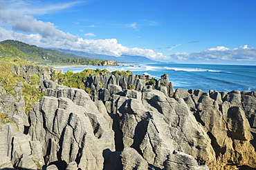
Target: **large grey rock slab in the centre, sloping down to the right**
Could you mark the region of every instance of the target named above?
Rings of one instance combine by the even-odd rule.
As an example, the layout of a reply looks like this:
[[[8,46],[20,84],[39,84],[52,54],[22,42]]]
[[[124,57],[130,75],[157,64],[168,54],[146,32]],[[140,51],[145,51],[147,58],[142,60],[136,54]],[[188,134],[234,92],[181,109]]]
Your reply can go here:
[[[214,160],[210,139],[184,100],[144,89],[142,99],[116,96],[113,103],[124,147],[136,149],[149,164],[163,168],[161,164],[174,149],[199,156],[204,162]]]

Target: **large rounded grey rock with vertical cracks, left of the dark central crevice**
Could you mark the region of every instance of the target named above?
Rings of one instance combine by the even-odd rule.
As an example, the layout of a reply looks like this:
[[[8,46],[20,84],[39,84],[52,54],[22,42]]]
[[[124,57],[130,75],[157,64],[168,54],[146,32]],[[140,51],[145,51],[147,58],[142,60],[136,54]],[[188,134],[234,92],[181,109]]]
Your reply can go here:
[[[103,114],[83,90],[50,91],[53,96],[42,98],[30,112],[30,135],[42,142],[46,164],[64,169],[75,161],[80,169],[103,169],[104,149],[114,149],[113,131]]]

